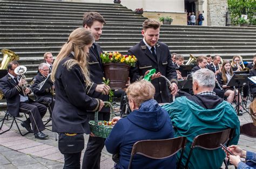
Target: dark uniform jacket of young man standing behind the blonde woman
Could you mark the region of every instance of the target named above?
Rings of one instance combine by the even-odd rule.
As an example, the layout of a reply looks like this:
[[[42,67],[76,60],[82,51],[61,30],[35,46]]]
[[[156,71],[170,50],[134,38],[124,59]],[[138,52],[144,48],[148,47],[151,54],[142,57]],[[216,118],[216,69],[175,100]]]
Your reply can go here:
[[[100,48],[100,46],[95,43],[97,46],[97,50],[98,53],[100,55],[100,53],[102,53],[102,48]],[[91,81],[95,82],[97,85],[102,84],[103,82],[103,77],[104,77],[104,69],[102,66],[102,60],[97,56],[97,54],[95,53],[95,51],[93,50],[93,47],[90,48],[90,52],[89,52],[89,69],[90,69],[90,78]],[[90,95],[93,98],[99,98],[100,100],[103,101],[108,101],[109,100],[109,96],[108,95],[103,95],[102,93],[99,93],[97,91],[93,91],[92,95]],[[102,110],[100,110],[100,112],[109,112],[109,108],[108,107],[103,107]]]

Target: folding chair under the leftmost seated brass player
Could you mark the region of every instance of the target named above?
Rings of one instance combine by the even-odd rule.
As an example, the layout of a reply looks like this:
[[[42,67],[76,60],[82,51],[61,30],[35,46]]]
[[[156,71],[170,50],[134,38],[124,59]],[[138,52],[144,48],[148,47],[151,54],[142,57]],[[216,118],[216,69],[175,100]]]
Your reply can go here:
[[[26,117],[26,114],[25,114],[25,117]],[[28,117],[26,117],[26,118],[28,118]],[[2,131],[2,127],[3,127],[4,121],[10,121],[10,120],[12,120],[10,128],[9,128],[9,129],[6,129],[6,130],[4,130],[4,131]],[[29,132],[22,133],[22,132],[21,132],[21,129],[19,129],[19,125],[18,125],[17,121],[23,122],[23,121],[22,121],[21,119],[19,119],[18,117],[12,116],[8,110],[5,111],[5,115],[4,115],[4,118],[2,119],[2,124],[1,124],[1,127],[0,127],[0,131],[2,131],[2,132],[0,132],[0,135],[2,135],[3,133],[5,133],[5,132],[11,130],[12,125],[14,124],[14,122],[15,122],[15,124],[16,124],[18,130],[19,130],[19,133],[20,133],[22,136],[27,135]]]

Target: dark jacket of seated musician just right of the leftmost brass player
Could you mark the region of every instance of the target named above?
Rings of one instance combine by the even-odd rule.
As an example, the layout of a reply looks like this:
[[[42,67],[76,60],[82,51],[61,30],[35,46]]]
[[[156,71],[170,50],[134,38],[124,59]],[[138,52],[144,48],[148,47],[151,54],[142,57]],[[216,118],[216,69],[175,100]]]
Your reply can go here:
[[[41,73],[38,73],[35,78],[33,78],[32,81],[32,90],[33,93],[35,94],[36,101],[38,101],[39,98],[44,98],[44,97],[51,97],[52,96],[52,85],[53,83],[49,79],[45,83],[45,87],[39,90],[39,83],[43,82],[47,77],[44,77]]]

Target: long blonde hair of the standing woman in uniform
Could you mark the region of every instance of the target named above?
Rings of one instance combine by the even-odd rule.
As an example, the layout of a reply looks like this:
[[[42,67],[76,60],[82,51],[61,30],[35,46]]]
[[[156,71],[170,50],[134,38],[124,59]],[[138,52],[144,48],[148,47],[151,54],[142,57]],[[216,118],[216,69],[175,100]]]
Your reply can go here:
[[[57,55],[57,58],[52,66],[53,69],[51,74],[51,80],[53,82],[55,81],[55,74],[58,69],[60,61],[68,57],[69,54],[73,51],[75,53],[74,59],[70,59],[66,61],[64,65],[68,70],[70,70],[75,65],[79,65],[84,75],[85,82],[89,84],[90,75],[89,75],[89,70],[87,68],[88,54],[84,51],[84,46],[92,44],[93,41],[94,41],[94,38],[92,36],[92,33],[84,29],[83,27],[79,27],[76,30],[74,30],[72,33],[70,33],[68,42],[63,45],[62,49]]]

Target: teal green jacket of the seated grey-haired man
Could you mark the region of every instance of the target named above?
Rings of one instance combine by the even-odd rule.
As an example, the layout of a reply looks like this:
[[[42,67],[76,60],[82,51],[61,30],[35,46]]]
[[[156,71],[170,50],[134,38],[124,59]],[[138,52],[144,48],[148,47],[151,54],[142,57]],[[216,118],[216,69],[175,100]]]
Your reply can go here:
[[[182,166],[186,164],[194,137],[200,134],[233,128],[235,133],[230,145],[238,143],[240,122],[234,108],[226,101],[221,102],[214,109],[205,109],[183,96],[162,107],[170,115],[174,137],[185,136],[187,138],[181,161]],[[179,157],[180,152],[177,153],[177,161]],[[225,152],[221,148],[217,150],[196,148],[193,150],[188,168],[220,168],[224,158]]]

